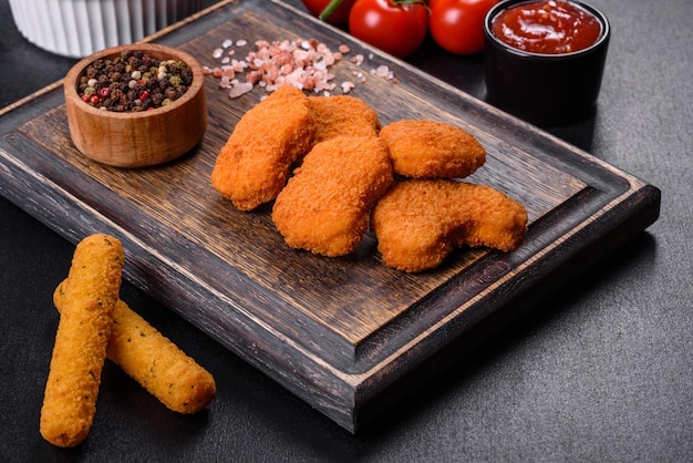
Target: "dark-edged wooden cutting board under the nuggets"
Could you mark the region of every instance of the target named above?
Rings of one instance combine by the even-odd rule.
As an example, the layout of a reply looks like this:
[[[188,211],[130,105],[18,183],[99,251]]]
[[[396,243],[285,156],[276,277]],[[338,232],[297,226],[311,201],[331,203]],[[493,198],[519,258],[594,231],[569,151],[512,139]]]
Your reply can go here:
[[[211,76],[203,142],[152,168],[107,167],[76,151],[61,82],[6,107],[0,193],[73,243],[97,232],[122,239],[130,281],[352,432],[473,326],[557,288],[659,216],[658,188],[280,2],[223,2],[148,40],[214,65],[226,39],[249,51],[296,38],[348,44],[335,82],[362,73],[351,94],[383,124],[430,119],[477,136],[487,162],[468,181],[525,204],[523,246],[461,249],[417,275],[386,267],[370,233],[343,258],[290,249],[271,205],[242,213],[210,185],[236,122],[266,95],[231,100]],[[362,64],[349,60],[358,54]],[[377,65],[399,83],[372,74]]]

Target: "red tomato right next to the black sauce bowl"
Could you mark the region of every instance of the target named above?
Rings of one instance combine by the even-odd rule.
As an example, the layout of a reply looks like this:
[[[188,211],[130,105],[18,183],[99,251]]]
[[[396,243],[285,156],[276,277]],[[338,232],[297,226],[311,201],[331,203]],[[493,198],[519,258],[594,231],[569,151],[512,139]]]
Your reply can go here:
[[[498,0],[431,1],[431,35],[443,49],[456,54],[484,51],[484,18]]]

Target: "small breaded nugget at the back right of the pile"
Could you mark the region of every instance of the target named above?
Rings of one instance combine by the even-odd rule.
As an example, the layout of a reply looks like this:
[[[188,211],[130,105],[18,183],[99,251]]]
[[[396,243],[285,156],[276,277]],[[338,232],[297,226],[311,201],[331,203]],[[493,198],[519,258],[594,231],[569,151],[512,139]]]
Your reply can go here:
[[[486,150],[454,125],[404,120],[385,125],[380,136],[387,143],[395,174],[411,178],[463,178],[486,162]]]

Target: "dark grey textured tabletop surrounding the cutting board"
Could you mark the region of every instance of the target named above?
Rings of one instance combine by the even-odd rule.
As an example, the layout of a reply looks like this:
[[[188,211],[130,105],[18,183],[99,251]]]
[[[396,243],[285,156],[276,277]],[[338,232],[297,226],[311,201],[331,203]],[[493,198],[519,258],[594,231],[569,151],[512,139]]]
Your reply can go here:
[[[291,0],[298,3],[297,0]],[[693,37],[690,0],[594,0],[613,28],[597,114],[549,132],[662,189],[659,222],[351,435],[130,285],[123,299],[209,369],[218,397],[168,412],[112,363],[77,449],[39,434],[73,246],[0,198],[0,461],[691,461]],[[61,79],[0,0],[0,106]],[[484,97],[480,56],[411,61]]]

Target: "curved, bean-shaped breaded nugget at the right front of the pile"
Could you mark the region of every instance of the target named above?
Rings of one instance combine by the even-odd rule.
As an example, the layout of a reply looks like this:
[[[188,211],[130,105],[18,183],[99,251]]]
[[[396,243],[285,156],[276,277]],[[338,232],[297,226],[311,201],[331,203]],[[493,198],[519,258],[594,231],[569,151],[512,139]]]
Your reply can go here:
[[[489,186],[406,179],[373,207],[371,229],[387,266],[416,272],[436,267],[465,244],[517,248],[527,230],[527,212]]]

